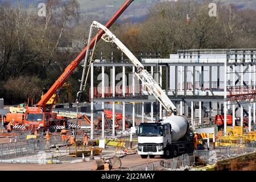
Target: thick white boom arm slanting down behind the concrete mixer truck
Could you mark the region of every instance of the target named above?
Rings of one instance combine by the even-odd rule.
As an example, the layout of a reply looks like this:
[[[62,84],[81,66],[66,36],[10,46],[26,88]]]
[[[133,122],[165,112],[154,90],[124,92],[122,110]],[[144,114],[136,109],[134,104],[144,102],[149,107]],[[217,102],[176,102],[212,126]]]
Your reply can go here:
[[[105,31],[105,34],[102,36],[102,39],[105,42],[111,42],[115,43],[119,49],[125,55],[131,60],[131,62],[137,67],[137,72],[135,75],[144,82],[144,84],[147,86],[147,89],[150,90],[150,92],[155,96],[155,98],[164,106],[164,108],[171,112],[174,113],[175,115],[177,114],[177,108],[176,106],[172,103],[170,98],[166,95],[166,93],[163,92],[162,88],[158,85],[158,83],[154,80],[154,78],[150,75],[150,73],[147,72],[146,69],[144,69],[144,66],[141,64],[141,62],[129,51],[123,43],[115,37],[112,32],[108,30],[104,25],[94,21],[92,24],[93,27],[101,28],[102,30]],[[143,78],[146,80],[144,81]]]

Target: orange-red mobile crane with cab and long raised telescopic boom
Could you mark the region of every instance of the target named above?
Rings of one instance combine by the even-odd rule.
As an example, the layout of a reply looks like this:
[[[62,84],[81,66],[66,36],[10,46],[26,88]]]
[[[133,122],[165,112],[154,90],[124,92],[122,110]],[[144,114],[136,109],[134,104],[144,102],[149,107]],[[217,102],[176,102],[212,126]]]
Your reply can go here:
[[[114,14],[114,16],[105,24],[106,27],[110,28],[112,24],[119,18],[119,16],[129,7],[129,5],[134,0],[126,0],[126,2],[122,5],[122,7]],[[98,34],[91,40],[89,49],[92,49],[94,44],[97,43],[101,36],[104,34],[103,30],[100,30]],[[84,48],[84,50],[76,57],[71,64],[65,69],[62,75],[55,81],[55,83],[51,86],[46,94],[44,94],[43,98],[36,104],[36,107],[27,106],[26,114],[24,118],[24,126],[25,127],[33,127],[33,128],[46,128],[49,126],[55,125],[63,125],[61,121],[56,119],[56,114],[52,113],[52,106],[55,103],[57,97],[53,103],[47,106],[48,100],[53,96],[53,94],[58,93],[58,90],[63,86],[64,82],[67,80],[68,76],[75,70],[77,65],[79,65],[80,61],[84,59],[86,55],[86,51],[88,46]]]

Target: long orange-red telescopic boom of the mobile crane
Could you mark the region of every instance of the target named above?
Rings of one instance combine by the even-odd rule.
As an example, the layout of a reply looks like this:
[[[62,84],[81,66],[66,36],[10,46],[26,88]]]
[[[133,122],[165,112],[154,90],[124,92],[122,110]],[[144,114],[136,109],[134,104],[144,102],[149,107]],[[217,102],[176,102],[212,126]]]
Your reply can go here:
[[[108,23],[105,24],[105,27],[110,28],[112,24],[119,18],[119,16],[127,9],[127,7],[133,2],[134,0],[126,0],[126,2],[122,5],[122,7],[117,11],[117,13],[114,14],[114,16],[108,21]],[[101,36],[104,34],[103,30],[100,30],[98,32],[98,38],[97,42],[101,39]],[[94,43],[96,41],[96,36],[92,39],[92,41],[89,44],[89,49],[92,49],[94,46]],[[82,52],[79,54],[79,56],[76,57],[74,61],[72,61],[71,64],[68,65],[68,67],[65,69],[65,71],[62,73],[62,75],[55,81],[55,83],[51,86],[51,88],[48,90],[46,94],[44,94],[43,98],[38,102],[38,107],[44,107],[48,102],[48,100],[61,88],[61,86],[64,84],[64,82],[67,80],[69,75],[76,69],[77,65],[79,65],[80,61],[85,57],[86,50],[88,46],[82,50]]]

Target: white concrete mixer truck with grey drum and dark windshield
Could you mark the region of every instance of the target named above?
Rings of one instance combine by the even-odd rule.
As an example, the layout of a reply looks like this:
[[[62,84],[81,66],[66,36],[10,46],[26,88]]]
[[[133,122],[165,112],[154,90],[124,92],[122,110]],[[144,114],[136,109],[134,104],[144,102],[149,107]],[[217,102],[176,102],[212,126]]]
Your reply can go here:
[[[193,153],[193,132],[188,119],[181,115],[163,117],[159,122],[141,123],[138,131],[138,154],[146,159]]]

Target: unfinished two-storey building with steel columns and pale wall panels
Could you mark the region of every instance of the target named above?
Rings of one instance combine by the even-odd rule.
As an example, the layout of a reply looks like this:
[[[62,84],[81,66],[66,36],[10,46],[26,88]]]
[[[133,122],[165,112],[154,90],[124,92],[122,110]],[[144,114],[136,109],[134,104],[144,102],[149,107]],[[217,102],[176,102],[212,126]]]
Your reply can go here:
[[[155,57],[154,54],[151,56]],[[170,55],[170,59],[142,57],[142,63],[158,80],[159,85],[165,88],[164,92],[179,108],[179,113],[189,118],[193,127],[212,127],[215,116],[223,114],[223,130],[226,135],[226,115],[232,115],[231,126],[246,125],[249,132],[255,129],[255,56],[255,49],[191,49],[178,51],[176,55]],[[162,119],[162,115],[165,115],[162,105],[156,106],[156,99],[150,96],[143,82],[133,76],[133,64],[125,63],[124,60],[100,59],[91,67],[91,79],[94,79],[93,70],[101,68],[101,78],[98,79],[101,84],[95,86],[91,81],[91,105],[94,102],[102,103],[104,109],[106,103],[122,102],[125,114],[125,104],[136,101],[136,107],[141,108],[141,111],[136,109],[136,114],[141,115],[142,122],[145,104],[151,105],[151,121]],[[115,69],[118,67],[122,68],[122,73],[118,72],[117,77]],[[108,69],[111,75],[106,76]],[[120,77],[122,82],[118,81],[117,86],[115,82],[121,80]],[[135,103],[133,111],[135,115]]]

